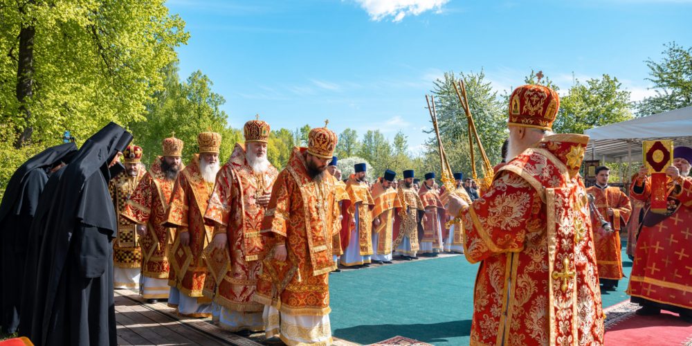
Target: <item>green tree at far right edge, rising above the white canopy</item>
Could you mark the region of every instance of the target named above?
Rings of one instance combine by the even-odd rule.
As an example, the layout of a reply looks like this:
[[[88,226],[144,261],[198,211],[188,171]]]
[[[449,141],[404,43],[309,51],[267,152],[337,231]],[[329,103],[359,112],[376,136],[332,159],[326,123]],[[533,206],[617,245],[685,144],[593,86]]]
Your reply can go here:
[[[671,42],[664,45],[660,62],[646,60],[655,96],[637,103],[637,116],[692,106],[692,47],[684,48]]]

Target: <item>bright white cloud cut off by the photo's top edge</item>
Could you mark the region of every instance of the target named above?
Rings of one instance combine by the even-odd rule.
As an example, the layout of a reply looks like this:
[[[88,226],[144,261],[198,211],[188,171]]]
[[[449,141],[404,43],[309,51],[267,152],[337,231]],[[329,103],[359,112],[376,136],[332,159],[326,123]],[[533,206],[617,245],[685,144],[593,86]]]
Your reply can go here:
[[[392,18],[394,23],[403,20],[407,15],[420,15],[426,11],[442,11],[442,6],[449,0],[355,0],[374,21]]]

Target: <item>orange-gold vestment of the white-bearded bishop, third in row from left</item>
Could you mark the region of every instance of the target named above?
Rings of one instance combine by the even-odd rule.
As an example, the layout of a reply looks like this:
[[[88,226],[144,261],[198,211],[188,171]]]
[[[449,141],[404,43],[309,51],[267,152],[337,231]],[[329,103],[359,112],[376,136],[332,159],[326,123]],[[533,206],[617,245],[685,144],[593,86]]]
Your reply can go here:
[[[199,154],[194,154],[190,164],[178,174],[164,224],[176,228],[169,254],[173,270],[168,275],[168,285],[189,297],[202,297],[208,277],[202,251],[211,242],[213,229],[204,224],[203,216],[213,187],[213,181],[204,181]],[[181,233],[190,235],[188,246],[181,244]]]

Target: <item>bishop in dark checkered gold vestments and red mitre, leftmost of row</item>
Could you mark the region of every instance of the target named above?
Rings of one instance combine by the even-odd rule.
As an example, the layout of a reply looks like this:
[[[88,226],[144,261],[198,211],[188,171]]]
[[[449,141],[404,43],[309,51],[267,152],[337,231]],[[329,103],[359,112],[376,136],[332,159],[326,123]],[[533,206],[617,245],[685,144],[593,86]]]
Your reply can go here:
[[[113,287],[115,289],[139,289],[142,250],[139,246],[135,225],[122,217],[125,203],[147,173],[141,163],[142,148],[129,145],[122,152],[125,171],[111,179],[108,188],[113,206],[118,214],[118,234],[113,239]]]

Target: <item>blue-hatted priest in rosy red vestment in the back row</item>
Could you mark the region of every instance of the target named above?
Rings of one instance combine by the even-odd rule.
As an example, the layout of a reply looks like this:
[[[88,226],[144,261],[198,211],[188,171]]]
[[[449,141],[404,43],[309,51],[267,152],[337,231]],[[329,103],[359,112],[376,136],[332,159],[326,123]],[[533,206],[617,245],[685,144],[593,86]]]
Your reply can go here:
[[[444,227],[444,206],[439,199],[439,193],[434,188],[435,173],[426,173],[426,180],[421,184],[418,195],[423,201],[426,216],[423,219],[423,238],[421,239],[421,253],[437,256],[442,248],[442,228]]]

